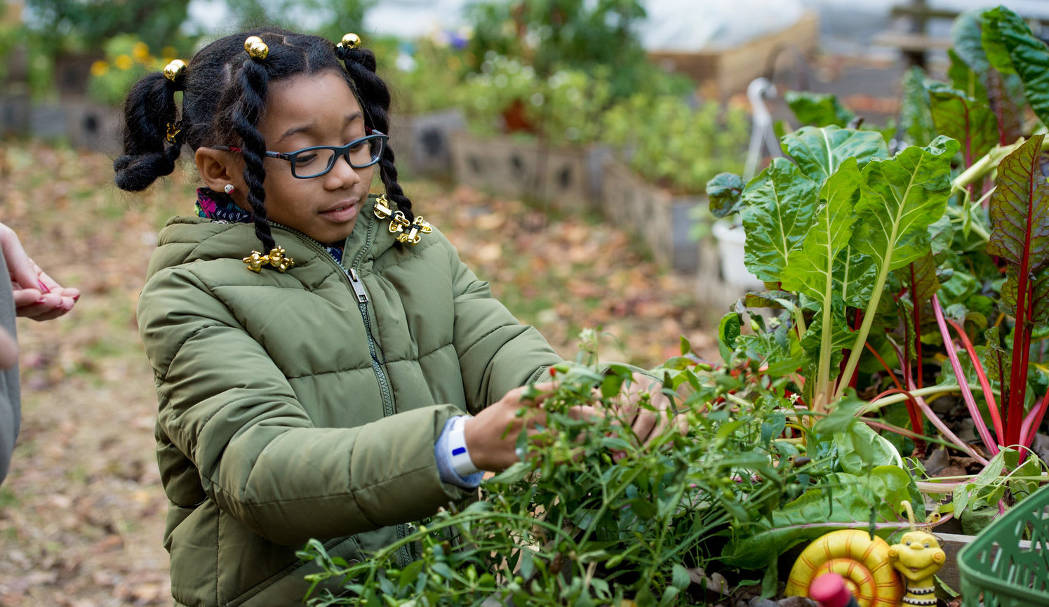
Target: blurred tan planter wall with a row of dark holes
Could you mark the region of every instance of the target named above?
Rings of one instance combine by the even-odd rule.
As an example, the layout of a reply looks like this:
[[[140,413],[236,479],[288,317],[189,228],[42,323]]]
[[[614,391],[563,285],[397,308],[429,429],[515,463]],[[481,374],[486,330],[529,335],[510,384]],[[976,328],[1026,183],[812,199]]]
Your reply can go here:
[[[500,196],[539,200],[555,209],[593,204],[591,151],[551,148],[511,137],[451,134],[455,180]]]

